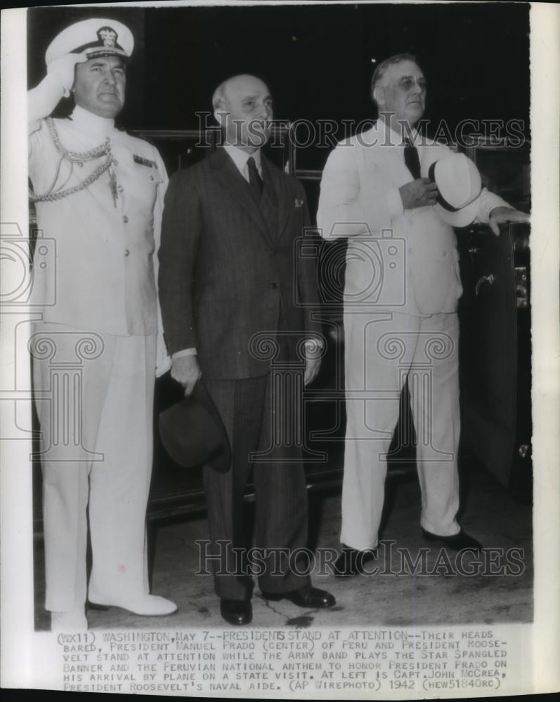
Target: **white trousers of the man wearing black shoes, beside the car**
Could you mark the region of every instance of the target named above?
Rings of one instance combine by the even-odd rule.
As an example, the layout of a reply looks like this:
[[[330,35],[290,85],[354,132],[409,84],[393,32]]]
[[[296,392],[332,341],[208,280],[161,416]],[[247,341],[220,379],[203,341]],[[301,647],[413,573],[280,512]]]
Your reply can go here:
[[[417,433],[427,531],[460,531],[457,448],[460,435],[457,314],[344,312],[346,444],[341,542],[374,548],[384,503],[386,453],[408,378]]]

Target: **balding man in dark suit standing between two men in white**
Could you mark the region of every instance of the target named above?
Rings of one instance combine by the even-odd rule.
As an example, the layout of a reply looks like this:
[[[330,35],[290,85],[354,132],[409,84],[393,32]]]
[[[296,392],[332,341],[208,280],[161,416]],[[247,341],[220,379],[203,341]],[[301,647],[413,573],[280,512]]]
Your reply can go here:
[[[202,378],[230,439],[230,470],[205,466],[204,489],[221,615],[230,624],[246,624],[252,620],[252,579],[235,555],[247,555],[242,501],[252,468],[263,597],[314,609],[334,604],[294,563],[306,546],[306,482],[299,445],[288,432],[278,442],[273,424],[289,428],[298,399],[292,397],[280,416],[266,353],[274,347],[275,363],[285,362],[296,380],[289,364],[297,365],[299,350],[313,347],[320,334],[312,319],[318,291],[313,259],[294,253],[308,222],[304,189],[260,151],[273,117],[267,86],[253,76],[235,76],[216,89],[213,105],[225,143],[171,178],[159,291],[171,376],[186,395]],[[320,354],[302,355],[309,383]],[[250,454],[257,451],[262,453],[254,461]]]

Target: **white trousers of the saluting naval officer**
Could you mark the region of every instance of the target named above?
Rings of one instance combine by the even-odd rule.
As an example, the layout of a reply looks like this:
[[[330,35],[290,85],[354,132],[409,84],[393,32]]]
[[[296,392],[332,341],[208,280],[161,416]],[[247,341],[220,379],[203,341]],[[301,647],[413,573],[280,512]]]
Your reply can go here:
[[[37,324],[30,342],[41,425],[46,609],[148,589],[145,512],[152,470],[155,336]]]

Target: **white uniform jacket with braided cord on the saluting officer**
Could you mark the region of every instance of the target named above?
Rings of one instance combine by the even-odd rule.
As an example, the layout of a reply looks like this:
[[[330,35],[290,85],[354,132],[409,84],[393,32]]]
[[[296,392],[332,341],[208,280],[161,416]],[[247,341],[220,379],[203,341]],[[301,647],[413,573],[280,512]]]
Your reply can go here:
[[[66,197],[37,202],[37,226],[51,270],[35,276],[31,302],[41,305],[45,322],[117,336],[155,334],[155,254],[167,187],[163,161],[150,143],[79,107],[70,119],[53,122],[65,149],[87,152],[108,140],[113,162],[80,190],[106,156],[61,161],[46,119],[30,126],[34,194],[56,196],[78,187]],[[36,266],[39,260],[36,251]]]

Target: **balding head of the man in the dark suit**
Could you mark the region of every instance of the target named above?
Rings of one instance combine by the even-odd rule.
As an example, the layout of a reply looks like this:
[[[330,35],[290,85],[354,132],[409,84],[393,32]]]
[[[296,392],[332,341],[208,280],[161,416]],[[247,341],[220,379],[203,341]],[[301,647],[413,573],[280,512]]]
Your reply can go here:
[[[212,95],[214,116],[226,131],[226,141],[254,152],[271,131],[272,98],[256,76],[241,74],[223,81]]]

